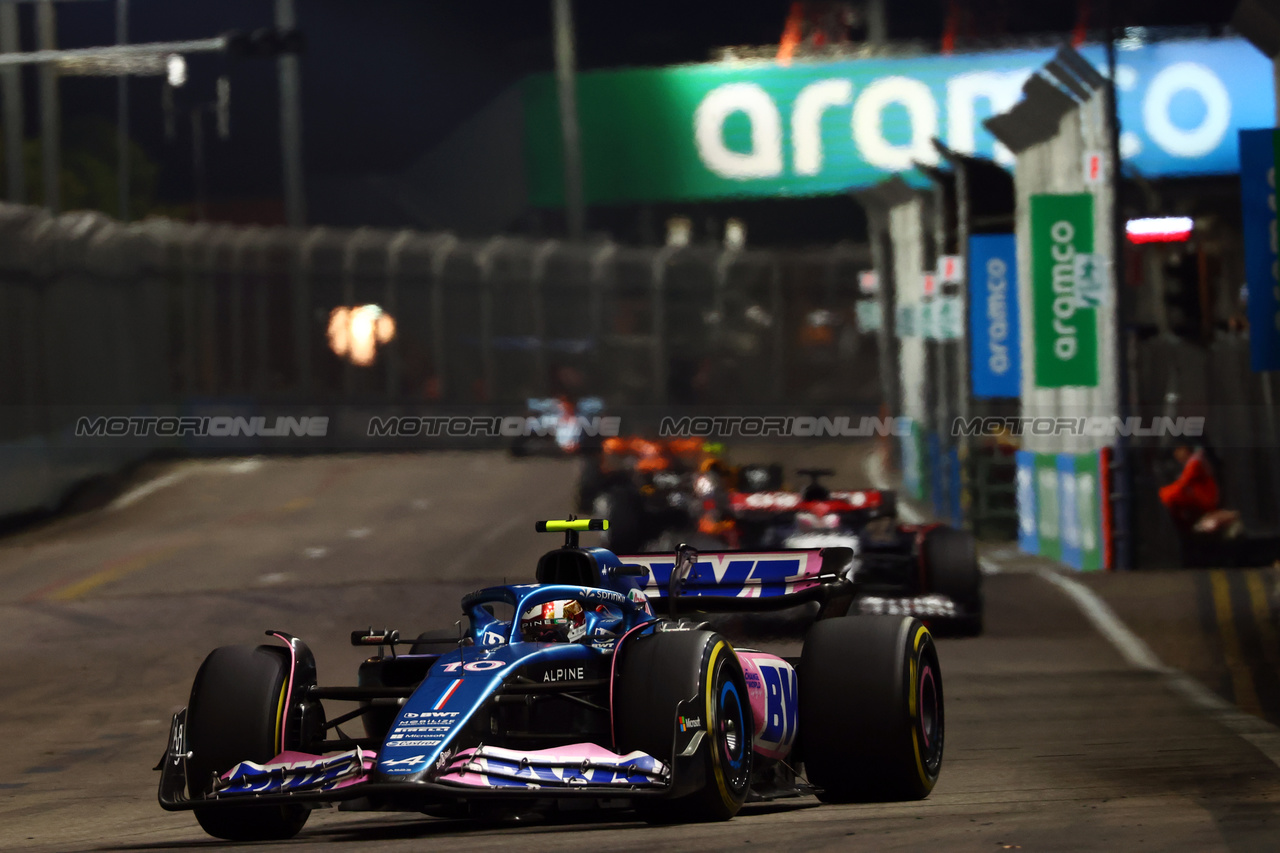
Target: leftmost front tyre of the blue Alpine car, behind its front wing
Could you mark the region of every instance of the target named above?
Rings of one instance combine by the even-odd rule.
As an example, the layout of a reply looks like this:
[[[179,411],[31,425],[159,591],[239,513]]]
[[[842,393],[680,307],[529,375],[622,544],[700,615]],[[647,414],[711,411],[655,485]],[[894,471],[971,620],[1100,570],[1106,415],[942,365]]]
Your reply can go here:
[[[289,653],[271,646],[224,646],[196,672],[187,704],[187,784],[193,798],[214,776],[242,761],[270,761],[296,744],[280,743]],[[291,738],[292,740],[293,738]],[[307,822],[305,806],[195,808],[206,833],[232,841],[293,838]]]

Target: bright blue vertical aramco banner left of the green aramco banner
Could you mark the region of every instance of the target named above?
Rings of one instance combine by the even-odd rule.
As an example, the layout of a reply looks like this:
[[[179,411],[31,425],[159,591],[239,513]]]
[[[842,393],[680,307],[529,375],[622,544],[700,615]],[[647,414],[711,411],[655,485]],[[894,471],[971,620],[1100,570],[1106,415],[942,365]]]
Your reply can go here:
[[[969,373],[977,398],[1021,396],[1018,245],[1012,234],[969,238]]]

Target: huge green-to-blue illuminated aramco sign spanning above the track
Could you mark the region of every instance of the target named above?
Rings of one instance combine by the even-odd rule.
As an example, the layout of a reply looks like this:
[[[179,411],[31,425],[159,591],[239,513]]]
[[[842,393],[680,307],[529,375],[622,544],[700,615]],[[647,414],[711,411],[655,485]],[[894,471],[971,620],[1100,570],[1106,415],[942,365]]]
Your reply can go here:
[[[1102,67],[1101,47],[1084,47]],[[591,72],[579,113],[588,200],[842,193],[937,163],[932,140],[1012,158],[983,126],[1052,50]],[[1121,50],[1121,156],[1147,175],[1239,168],[1235,131],[1274,122],[1268,60],[1239,38]],[[534,204],[562,197],[554,85],[525,91]]]

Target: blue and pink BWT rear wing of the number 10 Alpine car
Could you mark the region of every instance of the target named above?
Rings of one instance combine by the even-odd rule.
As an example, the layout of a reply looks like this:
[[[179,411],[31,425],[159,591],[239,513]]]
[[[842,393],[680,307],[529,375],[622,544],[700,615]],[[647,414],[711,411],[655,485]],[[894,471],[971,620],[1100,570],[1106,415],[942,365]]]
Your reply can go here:
[[[852,602],[852,548],[714,551],[681,546],[675,553],[618,555],[649,570],[644,592],[655,611],[760,612],[818,602],[819,619]]]

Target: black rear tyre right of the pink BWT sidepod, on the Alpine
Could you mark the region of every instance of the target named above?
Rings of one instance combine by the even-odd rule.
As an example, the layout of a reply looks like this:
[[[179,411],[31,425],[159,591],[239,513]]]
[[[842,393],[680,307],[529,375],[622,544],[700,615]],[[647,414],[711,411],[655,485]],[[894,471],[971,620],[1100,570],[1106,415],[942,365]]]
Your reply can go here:
[[[827,803],[922,799],[942,766],[942,672],[909,616],[815,624],[797,672],[805,774]]]

